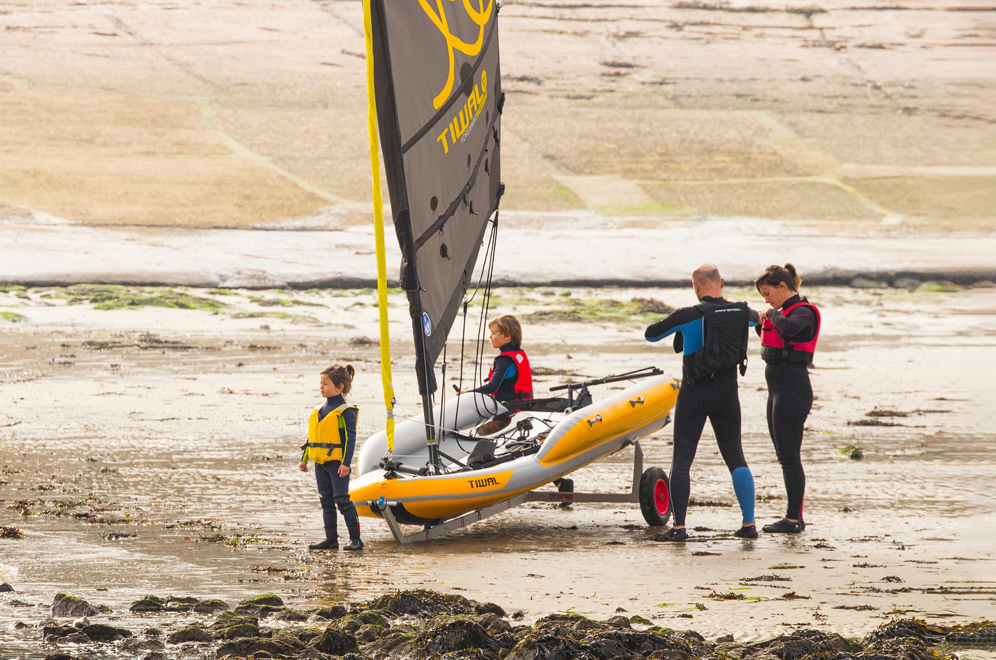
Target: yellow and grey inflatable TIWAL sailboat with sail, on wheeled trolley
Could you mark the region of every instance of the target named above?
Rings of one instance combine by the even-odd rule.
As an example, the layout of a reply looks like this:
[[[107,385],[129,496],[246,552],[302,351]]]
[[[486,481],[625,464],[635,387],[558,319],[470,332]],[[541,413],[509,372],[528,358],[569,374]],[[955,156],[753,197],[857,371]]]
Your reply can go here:
[[[360,451],[350,486],[360,515],[385,520],[399,543],[429,539],[527,501],[639,502],[648,524],[664,525],[667,478],[659,468],[642,470],[638,444],[669,422],[677,397],[678,383],[659,370],[560,385],[551,392],[565,395],[507,405],[479,393],[435,402],[435,365],[457,317],[463,315],[466,329],[468,309],[474,304],[476,316],[480,304],[478,361],[488,318],[504,192],[498,7],[493,0],[365,0],[364,12],[386,427]],[[422,415],[396,426],[378,134],[422,401]],[[461,364],[465,339],[460,337]],[[443,359],[443,388],[445,369]],[[633,384],[602,399],[590,391],[626,380]],[[634,447],[628,493],[536,490],[628,446]],[[406,535],[404,524],[422,531]]]

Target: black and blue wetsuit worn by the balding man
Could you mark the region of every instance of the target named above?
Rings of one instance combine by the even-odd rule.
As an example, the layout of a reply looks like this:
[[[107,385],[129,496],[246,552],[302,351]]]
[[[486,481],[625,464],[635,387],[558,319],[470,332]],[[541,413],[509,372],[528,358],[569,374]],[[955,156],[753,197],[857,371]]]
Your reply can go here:
[[[702,304],[729,306],[722,298],[705,296]],[[747,308],[750,326],[758,324],[757,312]],[[697,307],[676,310],[666,319],[651,324],[644,336],[647,341],[659,341],[674,334],[674,352],[682,351],[682,375],[685,382],[678,392],[674,405],[674,453],[671,461],[671,503],[674,525],[685,524],[691,484],[688,471],[695,460],[698,440],[705,427],[706,418],[712,424],[716,443],[723,461],[730,471],[733,491],[736,493],[743,522],[754,522],[754,476],[744,459],[740,444],[740,396],[737,391],[737,367],[731,366],[694,382],[692,373],[694,354],[702,348],[705,339],[704,314]]]

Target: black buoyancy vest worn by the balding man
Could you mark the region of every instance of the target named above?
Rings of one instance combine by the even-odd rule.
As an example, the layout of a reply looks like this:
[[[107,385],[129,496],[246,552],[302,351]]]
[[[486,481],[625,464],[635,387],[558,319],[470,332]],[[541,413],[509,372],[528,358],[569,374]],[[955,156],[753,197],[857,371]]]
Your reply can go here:
[[[747,337],[750,316],[746,303],[703,301],[695,306],[702,313],[702,347],[690,355],[690,382],[737,366],[747,372]]]

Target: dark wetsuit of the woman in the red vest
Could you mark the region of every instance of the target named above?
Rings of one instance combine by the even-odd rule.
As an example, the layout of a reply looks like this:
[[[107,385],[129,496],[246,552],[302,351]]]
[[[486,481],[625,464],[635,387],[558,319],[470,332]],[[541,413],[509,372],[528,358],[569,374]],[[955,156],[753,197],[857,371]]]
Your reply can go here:
[[[808,302],[798,295],[782,304],[788,309],[796,303]],[[819,330],[813,310],[805,305],[783,315],[779,310],[768,312],[768,319],[782,338],[803,343],[812,341]],[[760,328],[758,332],[760,333]],[[785,517],[799,520],[803,517],[803,499],[806,494],[806,472],[803,470],[802,445],[806,418],[813,407],[813,385],[805,364],[788,359],[765,360],[764,377],[768,381],[768,433],[775,445],[778,463],[788,504]]]

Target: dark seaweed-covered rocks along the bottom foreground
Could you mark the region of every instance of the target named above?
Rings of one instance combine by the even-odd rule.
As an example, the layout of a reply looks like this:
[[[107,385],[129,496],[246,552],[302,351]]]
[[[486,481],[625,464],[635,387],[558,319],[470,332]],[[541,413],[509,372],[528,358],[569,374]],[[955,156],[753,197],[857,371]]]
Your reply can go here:
[[[806,629],[749,644],[732,635],[708,641],[693,630],[647,625],[638,615],[595,621],[562,612],[523,625],[515,622],[523,618],[522,612],[508,615],[495,603],[429,590],[398,591],[363,603],[337,602],[308,610],[288,607],[280,596],[269,593],[234,608],[218,599],[146,595],[129,610],[131,628],[94,623],[89,617],[110,614],[111,609],[57,594],[52,617],[37,627],[47,645],[72,644],[63,649],[71,648],[73,653],[52,652],[46,660],[933,660],[956,658],[956,646],[996,644],[996,623],[989,621],[949,627],[902,619],[879,626],[864,639]],[[162,616],[172,612],[177,620],[162,622]],[[197,615],[202,615],[200,620]],[[142,627],[143,617],[154,618],[155,625]],[[21,622],[18,627],[31,624]]]

